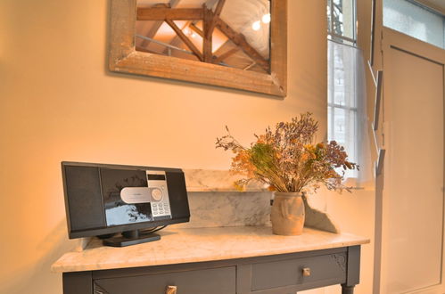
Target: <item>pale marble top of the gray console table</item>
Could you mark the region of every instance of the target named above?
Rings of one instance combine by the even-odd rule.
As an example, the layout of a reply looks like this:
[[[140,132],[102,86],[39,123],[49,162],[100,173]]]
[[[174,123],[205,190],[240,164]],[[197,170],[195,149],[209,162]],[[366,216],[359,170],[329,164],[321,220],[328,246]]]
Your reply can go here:
[[[167,228],[161,240],[124,248],[104,247],[94,239],[81,252],[68,252],[52,266],[56,273],[112,268],[171,265],[190,262],[260,257],[366,244],[350,233],[326,233],[304,228],[300,236],[277,236],[269,226]]]

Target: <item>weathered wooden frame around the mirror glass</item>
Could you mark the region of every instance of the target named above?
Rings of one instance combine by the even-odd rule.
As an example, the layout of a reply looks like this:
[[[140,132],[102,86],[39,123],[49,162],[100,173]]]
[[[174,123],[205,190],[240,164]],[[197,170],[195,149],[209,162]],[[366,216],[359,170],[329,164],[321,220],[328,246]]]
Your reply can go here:
[[[111,0],[109,69],[285,97],[287,0],[270,3],[270,74],[136,51],[136,0]]]

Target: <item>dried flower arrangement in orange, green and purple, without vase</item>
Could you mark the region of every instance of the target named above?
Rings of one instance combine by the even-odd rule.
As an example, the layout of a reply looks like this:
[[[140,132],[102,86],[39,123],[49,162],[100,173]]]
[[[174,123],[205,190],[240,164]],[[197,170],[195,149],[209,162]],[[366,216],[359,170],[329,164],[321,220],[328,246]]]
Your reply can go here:
[[[228,134],[217,138],[216,147],[235,153],[230,170],[244,177],[235,183],[238,189],[259,180],[278,192],[315,192],[321,184],[329,190],[350,192],[342,184],[344,170],[358,166],[348,161],[348,154],[335,141],[313,143],[318,123],[311,113],[280,122],[275,131],[268,127],[266,134],[255,135],[257,141],[250,148],[243,147],[226,128]]]

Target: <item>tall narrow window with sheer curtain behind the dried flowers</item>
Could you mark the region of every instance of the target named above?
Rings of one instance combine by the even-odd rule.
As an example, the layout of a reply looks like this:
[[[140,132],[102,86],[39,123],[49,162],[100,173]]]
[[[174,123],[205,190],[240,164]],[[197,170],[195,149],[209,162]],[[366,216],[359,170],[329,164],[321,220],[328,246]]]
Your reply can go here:
[[[358,162],[358,66],[354,0],[328,0],[328,140],[345,147],[351,161]],[[363,96],[362,96],[363,97]],[[359,163],[359,162],[358,162]],[[346,178],[356,178],[348,170]]]

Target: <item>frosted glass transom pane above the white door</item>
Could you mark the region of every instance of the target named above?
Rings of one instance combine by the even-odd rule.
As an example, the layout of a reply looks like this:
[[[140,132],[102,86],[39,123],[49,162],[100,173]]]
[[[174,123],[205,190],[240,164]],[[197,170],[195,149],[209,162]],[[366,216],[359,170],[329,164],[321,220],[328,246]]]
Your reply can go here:
[[[383,25],[444,48],[445,17],[406,0],[383,1]]]

